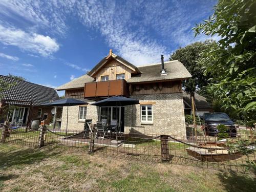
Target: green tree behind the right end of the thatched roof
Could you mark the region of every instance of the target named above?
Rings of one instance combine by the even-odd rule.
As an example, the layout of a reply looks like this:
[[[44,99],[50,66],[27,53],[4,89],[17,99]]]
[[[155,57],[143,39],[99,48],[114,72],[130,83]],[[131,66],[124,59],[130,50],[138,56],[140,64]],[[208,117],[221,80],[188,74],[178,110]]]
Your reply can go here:
[[[194,42],[184,48],[179,48],[172,55],[169,60],[179,60],[183,63],[192,77],[182,82],[184,91],[190,95],[194,95],[195,92],[207,97],[205,87],[208,84],[210,74],[204,75],[204,69],[201,63],[197,60],[201,57],[200,53],[203,51],[209,51],[210,49],[216,49],[217,43],[213,40],[206,40],[204,42]]]

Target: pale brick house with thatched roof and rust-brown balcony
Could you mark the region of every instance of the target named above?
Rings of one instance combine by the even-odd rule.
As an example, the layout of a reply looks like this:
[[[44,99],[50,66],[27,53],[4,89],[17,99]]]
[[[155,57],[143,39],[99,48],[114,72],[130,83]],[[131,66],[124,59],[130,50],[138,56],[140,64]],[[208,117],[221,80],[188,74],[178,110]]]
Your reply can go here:
[[[160,60],[160,58],[159,58]],[[121,121],[121,132],[142,134],[186,135],[181,82],[191,77],[178,60],[136,67],[110,53],[88,74],[74,79],[56,90],[65,97],[85,99],[88,105],[69,107],[68,129],[83,129],[84,121],[101,119]],[[136,64],[136,63],[135,63]],[[101,107],[90,103],[110,96],[122,95],[140,101],[125,107]],[[67,108],[63,107],[62,126],[66,129]]]

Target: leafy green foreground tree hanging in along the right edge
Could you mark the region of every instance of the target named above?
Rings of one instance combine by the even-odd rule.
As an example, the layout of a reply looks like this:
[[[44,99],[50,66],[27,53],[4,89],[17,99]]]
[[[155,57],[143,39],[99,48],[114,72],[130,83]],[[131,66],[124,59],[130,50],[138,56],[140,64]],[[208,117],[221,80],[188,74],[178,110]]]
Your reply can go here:
[[[211,74],[211,91],[226,110],[256,122],[256,1],[219,0],[208,20],[197,24],[195,35],[218,35],[219,47],[203,51],[200,65]]]

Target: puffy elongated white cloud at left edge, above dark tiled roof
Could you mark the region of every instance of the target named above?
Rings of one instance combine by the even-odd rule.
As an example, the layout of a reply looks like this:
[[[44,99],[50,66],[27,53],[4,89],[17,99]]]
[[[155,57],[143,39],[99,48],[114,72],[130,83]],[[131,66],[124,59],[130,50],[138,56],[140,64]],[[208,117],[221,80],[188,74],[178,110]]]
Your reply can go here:
[[[48,57],[59,50],[56,40],[37,33],[27,33],[13,27],[0,24],[0,41],[5,45],[17,46],[19,49]]]

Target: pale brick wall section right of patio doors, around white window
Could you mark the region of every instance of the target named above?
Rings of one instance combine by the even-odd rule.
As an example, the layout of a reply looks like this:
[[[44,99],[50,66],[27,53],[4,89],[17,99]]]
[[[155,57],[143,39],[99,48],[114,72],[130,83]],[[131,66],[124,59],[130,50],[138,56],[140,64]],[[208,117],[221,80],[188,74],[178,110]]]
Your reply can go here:
[[[182,93],[133,95],[132,98],[153,104],[153,124],[141,123],[140,104],[125,107],[124,132],[146,135],[186,136]]]

